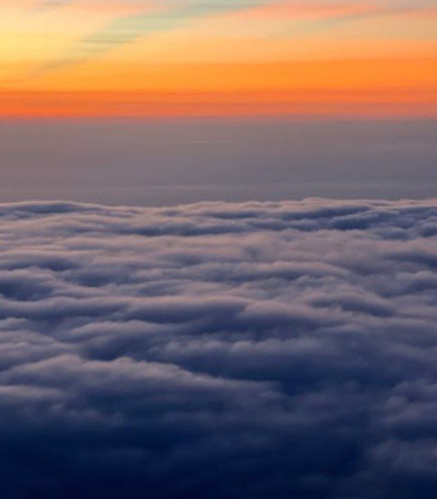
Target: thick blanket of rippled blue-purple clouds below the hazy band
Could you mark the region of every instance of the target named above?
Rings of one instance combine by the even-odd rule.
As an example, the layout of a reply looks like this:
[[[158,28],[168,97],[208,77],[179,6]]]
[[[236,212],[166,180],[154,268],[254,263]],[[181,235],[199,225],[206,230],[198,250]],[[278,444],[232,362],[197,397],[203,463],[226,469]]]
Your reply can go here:
[[[437,496],[437,200],[0,205],[0,496]]]

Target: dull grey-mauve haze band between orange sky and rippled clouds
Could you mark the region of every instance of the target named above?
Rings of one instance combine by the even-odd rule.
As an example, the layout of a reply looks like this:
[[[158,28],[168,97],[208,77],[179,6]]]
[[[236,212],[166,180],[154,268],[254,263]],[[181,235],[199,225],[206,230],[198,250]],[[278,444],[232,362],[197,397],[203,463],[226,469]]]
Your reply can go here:
[[[0,123],[0,201],[426,198],[437,121]]]

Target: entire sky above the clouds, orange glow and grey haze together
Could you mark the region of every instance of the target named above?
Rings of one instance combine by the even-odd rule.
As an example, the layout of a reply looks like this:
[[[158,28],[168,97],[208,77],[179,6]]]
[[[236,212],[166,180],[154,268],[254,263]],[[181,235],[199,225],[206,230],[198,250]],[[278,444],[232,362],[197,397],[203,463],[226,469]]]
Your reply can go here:
[[[0,202],[435,194],[435,0],[0,2]]]

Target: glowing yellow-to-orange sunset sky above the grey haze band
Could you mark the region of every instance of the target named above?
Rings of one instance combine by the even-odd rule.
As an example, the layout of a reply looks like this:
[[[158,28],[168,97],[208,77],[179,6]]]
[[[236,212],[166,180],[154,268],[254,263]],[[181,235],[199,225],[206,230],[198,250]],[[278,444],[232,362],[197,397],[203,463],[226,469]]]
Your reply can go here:
[[[15,0],[0,114],[437,114],[435,0]]]

